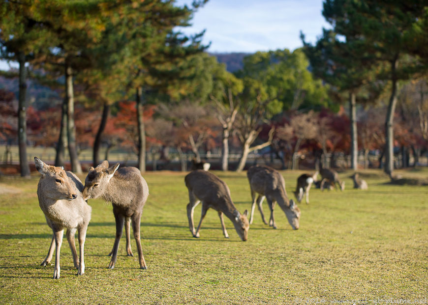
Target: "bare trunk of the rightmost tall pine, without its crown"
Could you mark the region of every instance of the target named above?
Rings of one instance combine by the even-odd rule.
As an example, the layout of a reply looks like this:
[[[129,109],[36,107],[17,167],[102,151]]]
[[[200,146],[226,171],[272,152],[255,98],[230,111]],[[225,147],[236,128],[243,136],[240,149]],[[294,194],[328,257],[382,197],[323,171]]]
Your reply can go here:
[[[391,62],[391,74],[392,74],[392,89],[391,96],[388,105],[388,111],[385,122],[385,134],[386,134],[386,147],[385,157],[386,165],[385,172],[392,177],[394,172],[394,113],[397,106],[397,59]]]

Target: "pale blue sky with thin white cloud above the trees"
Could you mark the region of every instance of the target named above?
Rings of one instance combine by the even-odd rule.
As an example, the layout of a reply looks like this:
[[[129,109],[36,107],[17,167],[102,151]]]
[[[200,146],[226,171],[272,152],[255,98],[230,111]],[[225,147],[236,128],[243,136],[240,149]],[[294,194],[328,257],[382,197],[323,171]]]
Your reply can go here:
[[[180,6],[191,2],[176,1]],[[205,30],[203,43],[211,42],[210,53],[293,51],[302,47],[300,31],[315,43],[323,27],[331,28],[321,11],[322,0],[209,0],[182,31]],[[8,70],[6,62],[0,61],[0,69]]]

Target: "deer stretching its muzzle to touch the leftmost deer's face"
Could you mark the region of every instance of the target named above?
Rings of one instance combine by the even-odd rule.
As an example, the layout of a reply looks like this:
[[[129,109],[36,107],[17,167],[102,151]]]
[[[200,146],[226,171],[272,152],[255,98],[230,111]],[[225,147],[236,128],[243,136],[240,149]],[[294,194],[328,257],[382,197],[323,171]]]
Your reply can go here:
[[[95,168],[90,167],[85,179],[83,197],[85,199],[101,197],[113,205],[113,214],[116,220],[116,238],[109,269],[113,269],[118,257],[119,242],[122,237],[123,225],[126,234],[126,252],[133,256],[131,251],[130,223],[137,244],[138,258],[141,269],[147,269],[140,240],[140,221],[143,207],[149,196],[149,187],[136,167],[121,167],[119,163],[109,167],[107,160]]]

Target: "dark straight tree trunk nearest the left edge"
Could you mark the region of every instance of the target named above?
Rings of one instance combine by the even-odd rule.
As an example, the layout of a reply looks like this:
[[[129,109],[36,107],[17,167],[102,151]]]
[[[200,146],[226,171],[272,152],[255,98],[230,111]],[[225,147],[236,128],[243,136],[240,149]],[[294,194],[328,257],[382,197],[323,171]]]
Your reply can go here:
[[[25,72],[25,54],[19,52],[19,101],[18,101],[18,147],[21,176],[30,177],[30,166],[27,161],[27,83]]]

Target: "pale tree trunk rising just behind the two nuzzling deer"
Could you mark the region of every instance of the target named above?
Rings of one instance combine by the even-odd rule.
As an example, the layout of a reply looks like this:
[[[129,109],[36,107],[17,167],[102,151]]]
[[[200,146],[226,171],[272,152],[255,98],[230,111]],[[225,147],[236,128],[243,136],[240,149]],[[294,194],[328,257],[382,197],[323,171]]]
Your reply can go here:
[[[65,63],[65,92],[65,99],[67,100],[68,154],[70,155],[71,171],[81,174],[82,166],[80,166],[77,156],[76,126],[74,124],[73,68],[68,60]]]

